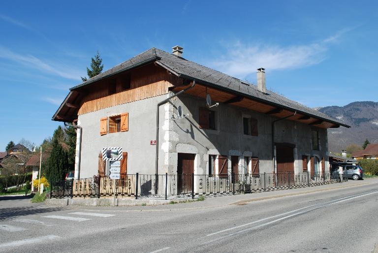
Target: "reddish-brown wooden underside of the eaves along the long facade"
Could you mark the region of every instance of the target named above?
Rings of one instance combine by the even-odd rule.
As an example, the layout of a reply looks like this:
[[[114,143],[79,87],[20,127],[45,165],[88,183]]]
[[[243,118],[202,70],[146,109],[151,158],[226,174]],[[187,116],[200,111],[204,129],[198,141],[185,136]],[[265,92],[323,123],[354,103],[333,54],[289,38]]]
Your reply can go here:
[[[187,87],[189,86],[174,87],[173,90],[182,91]],[[230,93],[227,93],[227,92],[215,89],[215,88],[206,87],[201,84],[197,84],[193,89],[190,89],[186,93],[189,95],[194,95],[194,96],[202,97],[202,98],[205,98],[206,94],[209,94],[213,101],[242,107],[242,108],[249,109],[252,111],[271,115],[277,118],[284,118],[284,117],[293,115],[293,111],[289,111],[289,110],[282,109],[273,105],[265,104],[263,102],[253,100],[251,98],[247,98],[247,97],[242,98],[240,97],[240,95],[230,94]],[[318,119],[312,118],[310,116],[307,116],[301,113],[297,113],[296,115],[287,118],[287,120],[297,121],[297,122],[301,122],[307,125],[313,125],[320,128],[329,128],[335,125],[333,123],[329,123],[325,121],[320,123]],[[320,123],[320,124],[316,124],[316,123]]]

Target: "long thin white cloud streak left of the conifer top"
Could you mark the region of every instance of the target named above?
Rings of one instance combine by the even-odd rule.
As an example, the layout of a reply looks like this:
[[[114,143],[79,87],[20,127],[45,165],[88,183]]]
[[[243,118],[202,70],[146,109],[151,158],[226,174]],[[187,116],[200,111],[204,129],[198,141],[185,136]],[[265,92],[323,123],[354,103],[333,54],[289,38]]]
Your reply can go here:
[[[80,80],[82,72],[69,69],[63,65],[46,63],[32,55],[17,54],[5,47],[0,46],[0,58],[23,64],[27,67],[38,69],[43,72],[58,75],[67,79]]]

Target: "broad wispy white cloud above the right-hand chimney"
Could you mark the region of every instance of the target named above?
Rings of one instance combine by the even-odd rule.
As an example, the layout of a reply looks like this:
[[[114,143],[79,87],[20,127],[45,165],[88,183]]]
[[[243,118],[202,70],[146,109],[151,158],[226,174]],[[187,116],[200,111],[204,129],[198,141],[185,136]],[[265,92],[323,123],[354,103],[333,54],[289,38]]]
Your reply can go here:
[[[210,64],[221,72],[245,78],[257,68],[271,70],[292,69],[310,66],[322,62],[330,43],[336,42],[348,30],[337,32],[319,42],[282,47],[278,45],[246,44],[240,41],[226,46],[226,53],[221,59]]]

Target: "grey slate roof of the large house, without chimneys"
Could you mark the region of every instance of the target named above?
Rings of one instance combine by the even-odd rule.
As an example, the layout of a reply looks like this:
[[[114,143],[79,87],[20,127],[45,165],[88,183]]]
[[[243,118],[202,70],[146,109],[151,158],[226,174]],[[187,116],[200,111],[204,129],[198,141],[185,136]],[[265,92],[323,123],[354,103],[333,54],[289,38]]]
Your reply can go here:
[[[275,106],[280,106],[285,109],[296,110],[298,111],[298,113],[304,113],[310,116],[315,116],[315,118],[336,123],[341,126],[350,127],[340,120],[333,119],[324,113],[321,113],[303,104],[290,100],[282,95],[278,95],[269,90],[267,90],[266,93],[263,93],[259,91],[255,85],[246,83],[235,77],[221,73],[209,67],[205,67],[198,63],[194,63],[184,58],[180,58],[176,55],[169,54],[157,48],[151,48],[127,60],[124,63],[116,65],[111,69],[101,74],[98,74],[97,76],[71,88],[70,90],[76,90],[80,87],[89,85],[105,77],[115,75],[119,72],[149,62],[157,62],[159,65],[163,66],[164,68],[168,69],[169,71],[178,75],[179,77],[195,79],[199,83],[204,83],[207,85],[214,86],[216,88],[229,90],[240,95],[250,96],[252,99],[260,100],[262,102],[269,103]]]

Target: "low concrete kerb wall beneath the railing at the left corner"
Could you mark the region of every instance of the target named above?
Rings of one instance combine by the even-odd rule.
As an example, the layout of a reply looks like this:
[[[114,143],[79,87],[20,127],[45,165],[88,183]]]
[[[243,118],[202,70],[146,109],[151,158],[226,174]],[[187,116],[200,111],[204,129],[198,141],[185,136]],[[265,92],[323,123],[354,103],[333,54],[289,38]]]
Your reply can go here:
[[[153,206],[168,204],[170,200],[161,199],[122,199],[122,198],[48,198],[49,206]]]

